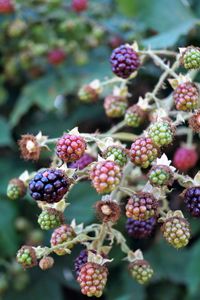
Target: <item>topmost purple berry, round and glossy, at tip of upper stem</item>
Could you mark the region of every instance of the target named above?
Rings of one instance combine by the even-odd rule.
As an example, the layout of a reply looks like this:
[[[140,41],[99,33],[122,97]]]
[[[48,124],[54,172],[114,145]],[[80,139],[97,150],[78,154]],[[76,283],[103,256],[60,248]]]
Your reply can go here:
[[[118,77],[128,78],[140,66],[140,59],[135,50],[129,45],[121,45],[113,50],[110,63],[112,71]]]

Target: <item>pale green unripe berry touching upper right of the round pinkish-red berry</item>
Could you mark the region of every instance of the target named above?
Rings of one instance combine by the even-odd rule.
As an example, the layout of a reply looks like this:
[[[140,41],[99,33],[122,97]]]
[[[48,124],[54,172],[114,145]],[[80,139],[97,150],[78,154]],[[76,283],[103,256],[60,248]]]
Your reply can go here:
[[[148,134],[156,146],[162,147],[172,143],[174,130],[168,121],[163,120],[150,125]]]

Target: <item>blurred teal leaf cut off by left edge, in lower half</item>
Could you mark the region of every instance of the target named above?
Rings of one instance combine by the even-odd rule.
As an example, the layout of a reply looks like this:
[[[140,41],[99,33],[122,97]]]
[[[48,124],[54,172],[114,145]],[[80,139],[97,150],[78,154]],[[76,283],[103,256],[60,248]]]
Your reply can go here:
[[[0,199],[0,253],[15,255],[17,250],[17,235],[14,229],[16,210],[11,202]]]

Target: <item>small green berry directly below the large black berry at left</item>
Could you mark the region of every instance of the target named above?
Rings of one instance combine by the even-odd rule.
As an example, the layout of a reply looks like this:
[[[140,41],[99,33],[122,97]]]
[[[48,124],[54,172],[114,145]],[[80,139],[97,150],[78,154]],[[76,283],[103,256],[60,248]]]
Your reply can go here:
[[[49,208],[41,212],[38,223],[42,230],[53,229],[64,223],[64,215],[54,208]]]

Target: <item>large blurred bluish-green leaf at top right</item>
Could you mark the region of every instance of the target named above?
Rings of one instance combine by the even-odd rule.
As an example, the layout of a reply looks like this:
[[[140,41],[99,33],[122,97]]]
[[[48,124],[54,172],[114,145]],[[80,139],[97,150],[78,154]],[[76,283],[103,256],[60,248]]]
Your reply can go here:
[[[144,40],[143,45],[151,48],[174,45],[197,23],[189,6],[179,0],[118,0],[118,6],[123,13],[137,18],[145,29],[158,33]]]

